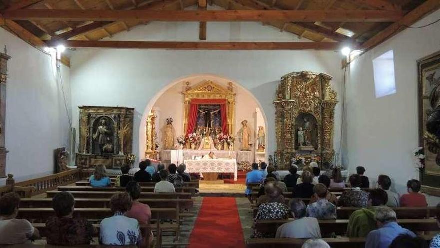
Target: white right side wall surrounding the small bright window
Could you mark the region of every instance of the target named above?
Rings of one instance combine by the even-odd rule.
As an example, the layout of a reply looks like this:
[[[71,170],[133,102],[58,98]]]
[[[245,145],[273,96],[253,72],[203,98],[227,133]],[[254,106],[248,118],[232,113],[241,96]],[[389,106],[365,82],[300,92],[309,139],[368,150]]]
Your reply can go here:
[[[412,26],[438,18],[440,11]],[[405,192],[408,179],[418,179],[412,160],[412,150],[418,147],[417,60],[440,50],[439,31],[440,23],[406,29],[351,62],[343,127],[343,161],[350,172],[363,165],[373,183],[377,175],[387,174],[400,193]],[[397,92],[376,99],[372,59],[390,49],[394,50]]]

